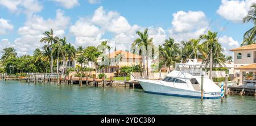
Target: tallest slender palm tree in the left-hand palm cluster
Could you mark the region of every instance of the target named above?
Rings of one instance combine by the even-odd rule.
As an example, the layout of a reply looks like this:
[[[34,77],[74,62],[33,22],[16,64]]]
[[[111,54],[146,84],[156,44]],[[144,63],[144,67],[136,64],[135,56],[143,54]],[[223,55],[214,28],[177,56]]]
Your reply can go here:
[[[53,30],[51,29],[51,31],[46,31],[44,32],[44,35],[46,35],[46,37],[43,37],[40,42],[44,42],[47,43],[47,45],[50,47],[50,51],[52,52],[52,44],[56,43],[57,41],[57,37],[53,36]],[[53,73],[53,56],[51,54],[51,74]]]

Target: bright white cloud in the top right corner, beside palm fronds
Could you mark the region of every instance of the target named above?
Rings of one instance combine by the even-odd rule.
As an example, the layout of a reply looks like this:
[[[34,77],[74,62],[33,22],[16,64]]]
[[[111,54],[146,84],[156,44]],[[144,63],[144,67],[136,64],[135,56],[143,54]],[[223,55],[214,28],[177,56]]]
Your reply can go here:
[[[217,10],[217,14],[232,22],[241,22],[250,10],[250,6],[256,3],[256,0],[222,0],[221,5]]]

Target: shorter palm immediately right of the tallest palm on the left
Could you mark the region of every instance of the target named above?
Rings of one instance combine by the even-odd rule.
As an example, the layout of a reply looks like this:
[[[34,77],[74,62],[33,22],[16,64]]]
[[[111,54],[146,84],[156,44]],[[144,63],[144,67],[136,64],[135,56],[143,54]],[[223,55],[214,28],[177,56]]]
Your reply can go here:
[[[61,55],[61,42],[57,39],[56,43],[52,45],[52,56],[56,56],[57,59],[57,74],[59,74],[59,57]]]

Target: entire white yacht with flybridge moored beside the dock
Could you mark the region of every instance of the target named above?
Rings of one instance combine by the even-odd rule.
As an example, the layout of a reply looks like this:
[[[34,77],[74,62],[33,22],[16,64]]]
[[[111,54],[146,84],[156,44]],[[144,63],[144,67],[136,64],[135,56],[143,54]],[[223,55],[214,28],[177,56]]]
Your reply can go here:
[[[221,89],[205,71],[205,65],[196,59],[188,59],[185,64],[175,64],[175,69],[162,80],[139,79],[146,93],[187,96],[201,98],[201,78],[203,78],[203,98],[221,98]]]

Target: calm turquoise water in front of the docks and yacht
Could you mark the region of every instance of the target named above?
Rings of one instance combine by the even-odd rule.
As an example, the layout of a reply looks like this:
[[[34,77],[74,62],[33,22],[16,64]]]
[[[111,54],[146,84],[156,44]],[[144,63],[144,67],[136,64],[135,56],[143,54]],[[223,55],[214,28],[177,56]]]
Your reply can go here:
[[[181,98],[124,87],[0,81],[0,114],[256,114],[255,96]]]

